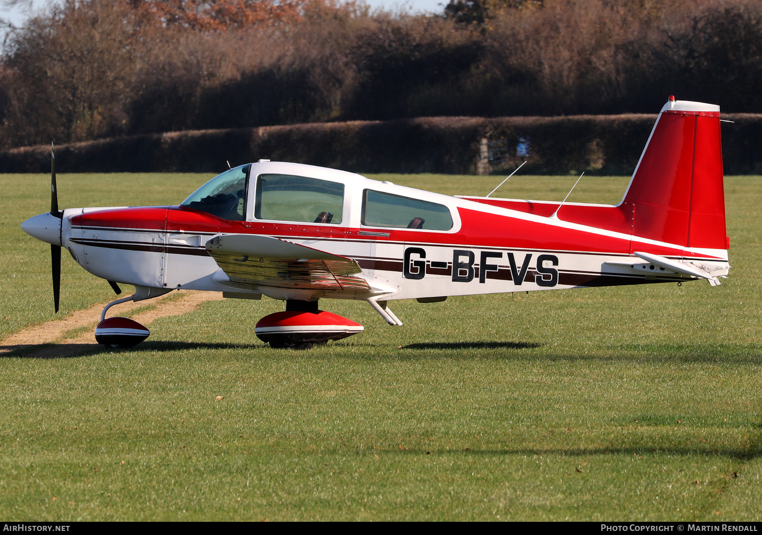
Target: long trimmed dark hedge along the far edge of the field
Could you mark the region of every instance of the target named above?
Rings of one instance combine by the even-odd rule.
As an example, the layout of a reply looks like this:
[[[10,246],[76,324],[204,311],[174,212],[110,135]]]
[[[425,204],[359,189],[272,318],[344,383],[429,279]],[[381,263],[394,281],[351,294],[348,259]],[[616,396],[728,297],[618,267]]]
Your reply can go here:
[[[655,115],[565,117],[423,117],[392,121],[309,123],[199,130],[100,139],[56,147],[60,172],[216,172],[267,158],[359,173],[474,174],[482,139],[507,139],[507,161],[522,161],[518,139],[530,141],[524,172],[631,174]],[[762,115],[728,114],[722,123],[726,174],[762,173]],[[50,168],[50,148],[0,152],[0,173]]]

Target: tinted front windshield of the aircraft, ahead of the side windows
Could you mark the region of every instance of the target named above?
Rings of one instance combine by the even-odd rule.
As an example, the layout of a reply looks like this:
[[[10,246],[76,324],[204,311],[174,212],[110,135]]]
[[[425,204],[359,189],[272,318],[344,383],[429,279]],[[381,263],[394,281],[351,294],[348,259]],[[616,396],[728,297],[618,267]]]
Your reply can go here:
[[[251,164],[239,165],[218,174],[180,204],[228,221],[244,221],[246,177],[250,167]]]

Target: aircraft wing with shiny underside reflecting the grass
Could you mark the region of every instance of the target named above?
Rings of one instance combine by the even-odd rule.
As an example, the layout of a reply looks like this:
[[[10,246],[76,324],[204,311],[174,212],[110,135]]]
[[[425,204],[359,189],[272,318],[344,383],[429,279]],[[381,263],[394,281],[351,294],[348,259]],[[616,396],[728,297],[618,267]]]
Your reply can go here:
[[[276,237],[222,234],[205,246],[232,282],[321,290],[370,291],[357,262]]]

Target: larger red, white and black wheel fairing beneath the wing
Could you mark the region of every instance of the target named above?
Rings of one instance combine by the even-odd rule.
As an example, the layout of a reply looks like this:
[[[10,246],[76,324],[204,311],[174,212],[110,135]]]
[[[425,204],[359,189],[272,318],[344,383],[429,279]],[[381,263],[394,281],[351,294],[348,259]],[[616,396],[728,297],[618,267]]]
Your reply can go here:
[[[361,333],[364,327],[345,317],[318,310],[318,301],[286,301],[286,311],[268,314],[257,322],[255,333],[276,349],[312,349],[315,344]]]

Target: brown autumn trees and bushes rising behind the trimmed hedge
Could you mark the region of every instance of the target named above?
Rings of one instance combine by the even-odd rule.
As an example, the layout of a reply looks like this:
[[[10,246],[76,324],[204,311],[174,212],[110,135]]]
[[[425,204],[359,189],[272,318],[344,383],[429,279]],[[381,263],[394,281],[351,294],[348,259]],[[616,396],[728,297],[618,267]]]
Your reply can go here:
[[[8,33],[0,148],[413,116],[762,111],[760,0],[66,0]]]

